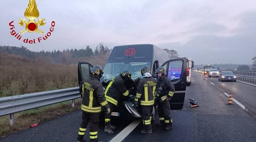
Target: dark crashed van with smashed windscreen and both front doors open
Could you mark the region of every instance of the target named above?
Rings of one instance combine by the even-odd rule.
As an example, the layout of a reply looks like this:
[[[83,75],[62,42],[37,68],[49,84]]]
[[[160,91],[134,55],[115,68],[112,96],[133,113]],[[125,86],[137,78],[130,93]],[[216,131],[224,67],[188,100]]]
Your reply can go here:
[[[163,66],[166,69],[166,76],[171,79],[175,86],[175,93],[170,101],[170,108],[172,110],[180,110],[183,108],[185,92],[186,92],[186,61],[185,57],[168,59],[166,51],[160,49],[152,44],[136,44],[136,45],[124,45],[116,46],[113,48],[109,55],[107,62],[104,66],[104,74],[100,81],[102,85],[106,87],[109,81],[117,76],[121,71],[128,69],[131,71],[131,81],[126,84],[129,88],[134,89],[130,92],[129,96],[122,96],[118,102],[119,107],[115,108],[112,112],[114,118],[121,119],[134,119],[141,117],[140,108],[136,108],[134,98],[136,96],[137,84],[142,78],[140,70],[143,66],[147,65],[151,68],[151,73],[154,74],[159,66]],[[78,63],[78,81],[79,85],[82,80],[90,75],[92,64],[87,62]],[[154,74],[154,77],[157,77]],[[154,119],[154,113],[157,106],[155,101],[152,116]],[[104,108],[102,108],[104,112]]]

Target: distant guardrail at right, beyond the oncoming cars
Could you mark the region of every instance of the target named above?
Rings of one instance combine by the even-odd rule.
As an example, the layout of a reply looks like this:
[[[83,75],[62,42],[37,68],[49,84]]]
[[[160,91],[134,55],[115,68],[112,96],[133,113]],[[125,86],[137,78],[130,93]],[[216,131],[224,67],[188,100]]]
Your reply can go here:
[[[256,70],[220,70],[220,71],[232,71],[237,79],[250,81],[256,83]]]

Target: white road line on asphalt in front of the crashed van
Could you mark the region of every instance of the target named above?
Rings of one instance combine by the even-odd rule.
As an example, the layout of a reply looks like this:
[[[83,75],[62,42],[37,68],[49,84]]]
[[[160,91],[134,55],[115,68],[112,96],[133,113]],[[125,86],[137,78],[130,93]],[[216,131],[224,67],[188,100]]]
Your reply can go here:
[[[131,133],[131,131],[133,131],[133,129],[135,129],[139,125],[140,122],[141,120],[134,120],[133,122],[130,123],[130,125],[128,125],[119,134],[117,134],[116,137],[110,140],[110,142],[121,142],[123,139],[125,139],[127,135]]]

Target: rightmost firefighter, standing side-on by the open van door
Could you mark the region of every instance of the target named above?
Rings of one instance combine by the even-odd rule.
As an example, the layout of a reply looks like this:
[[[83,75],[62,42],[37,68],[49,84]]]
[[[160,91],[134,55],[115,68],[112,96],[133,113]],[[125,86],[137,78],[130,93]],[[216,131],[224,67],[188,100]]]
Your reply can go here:
[[[174,94],[175,88],[173,83],[168,79],[166,71],[163,67],[156,69],[157,76],[157,96],[158,96],[158,115],[161,126],[165,126],[165,130],[171,130],[172,118],[171,118],[171,108],[170,100]]]

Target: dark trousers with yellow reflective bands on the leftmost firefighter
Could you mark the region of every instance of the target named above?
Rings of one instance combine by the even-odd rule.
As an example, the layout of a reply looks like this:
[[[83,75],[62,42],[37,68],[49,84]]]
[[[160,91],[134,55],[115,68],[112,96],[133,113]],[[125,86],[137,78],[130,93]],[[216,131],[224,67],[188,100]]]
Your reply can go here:
[[[78,141],[83,141],[83,137],[85,135],[85,131],[87,128],[88,123],[90,122],[90,132],[97,132],[98,131],[98,125],[100,122],[100,114],[93,114],[93,113],[85,113],[82,112],[82,118],[83,122],[80,125],[79,131],[78,131]],[[95,137],[94,137],[95,138]],[[91,141],[97,141],[97,138],[91,139]]]

